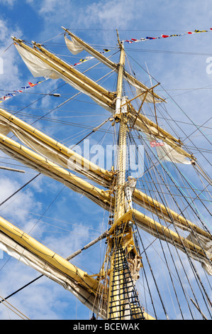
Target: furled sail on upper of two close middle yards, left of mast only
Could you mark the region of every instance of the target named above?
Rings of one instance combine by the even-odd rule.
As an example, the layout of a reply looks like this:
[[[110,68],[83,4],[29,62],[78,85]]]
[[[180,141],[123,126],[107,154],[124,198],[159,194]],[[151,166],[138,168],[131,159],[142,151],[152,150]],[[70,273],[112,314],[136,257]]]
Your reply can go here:
[[[9,131],[12,131],[30,149],[42,154],[57,165],[77,171],[104,187],[111,184],[112,172],[96,166],[50,136],[43,134],[4,109],[0,109],[0,133],[7,134]]]

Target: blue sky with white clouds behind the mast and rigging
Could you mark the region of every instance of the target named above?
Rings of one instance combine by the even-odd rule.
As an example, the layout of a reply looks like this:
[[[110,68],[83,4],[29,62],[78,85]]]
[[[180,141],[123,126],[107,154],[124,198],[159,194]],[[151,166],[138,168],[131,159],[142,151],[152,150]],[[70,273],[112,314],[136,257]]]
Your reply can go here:
[[[77,62],[81,55],[69,57],[61,26],[69,28],[98,50],[110,48],[111,52],[117,46],[116,29],[120,39],[126,40],[160,36],[162,33],[169,35],[212,28],[210,1],[0,0],[0,4],[0,56],[4,61],[4,74],[0,75],[1,95],[27,85],[28,81],[37,81],[11,45],[11,36],[25,41],[45,43],[57,54],[65,55],[65,60],[72,64]],[[146,73],[147,65],[152,77],[161,82],[161,86],[174,97],[175,102],[167,93],[160,91],[161,87],[157,90],[158,94],[166,95],[169,114],[177,121],[184,120],[184,123],[178,123],[179,133],[181,129],[186,134],[194,131],[194,126],[186,124],[188,117],[198,125],[211,117],[212,74],[206,72],[207,59],[211,55],[211,36],[211,33],[200,33],[125,44],[128,60],[133,63],[133,70],[138,74],[139,80],[150,85]],[[10,48],[6,50],[9,46]],[[118,61],[117,55],[113,60]],[[90,61],[91,65],[94,63],[94,60]],[[87,65],[80,65],[80,67],[85,70]],[[96,79],[100,73],[104,75],[105,70],[103,68],[94,70],[92,75]],[[104,85],[111,85],[112,82],[112,80],[104,82]],[[60,86],[62,86],[61,81],[48,80],[30,89],[26,94],[13,97],[4,105],[1,104],[1,107],[10,112],[19,112],[20,117],[29,123],[34,122],[35,117],[54,109],[76,93],[72,87]],[[110,89],[113,90],[114,87]],[[61,94],[60,100],[45,95],[52,90]],[[52,112],[50,117],[54,122],[43,120],[35,123],[35,126],[67,146],[74,145],[76,140],[82,139],[89,131],[76,124],[83,123],[92,127],[109,116],[105,110],[85,102],[89,102],[89,99],[80,96],[79,99]],[[28,104],[30,106],[23,109]],[[182,109],[179,109],[177,104]],[[35,116],[30,117],[31,114]],[[55,122],[59,119],[69,122],[69,126]],[[210,122],[207,125],[210,126]],[[203,128],[202,131],[205,136],[195,133],[194,143],[204,149],[210,149],[207,141],[210,131],[208,128]],[[109,142],[111,137],[108,134],[104,139]],[[91,144],[101,143],[102,140],[103,134],[92,136]],[[3,153],[1,158],[0,165],[4,163],[4,166],[11,166],[6,165],[8,160]],[[201,155],[199,158],[210,173],[208,163]],[[9,162],[18,164],[14,161]],[[182,168],[190,178],[189,171]],[[28,168],[24,169],[26,170],[24,175],[0,172],[0,202],[37,174]],[[196,176],[192,178],[193,181],[197,181]],[[57,195],[58,198],[55,200]],[[45,242],[50,249],[54,249],[63,257],[83,247],[107,228],[107,214],[101,208],[90,203],[87,198],[72,193],[62,184],[42,176],[1,207],[1,215],[26,232],[33,229],[31,232],[33,237]],[[40,218],[40,215],[43,217]],[[58,226],[63,230],[59,230]],[[101,247],[105,247],[104,242]],[[82,266],[85,271],[96,272],[98,269],[94,264],[101,262],[96,249],[98,248],[94,247],[94,252],[89,250],[87,254],[80,255],[74,264]],[[0,269],[2,282],[0,296],[4,297],[39,276],[39,273],[16,260],[9,259],[6,254],[4,259],[0,259]],[[13,296],[10,302],[30,319],[87,319],[91,315],[91,312],[81,306],[74,296],[45,277]],[[0,319],[16,318],[14,313],[1,305]]]

